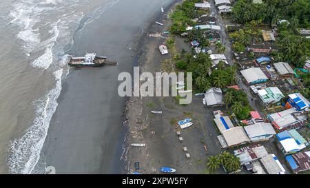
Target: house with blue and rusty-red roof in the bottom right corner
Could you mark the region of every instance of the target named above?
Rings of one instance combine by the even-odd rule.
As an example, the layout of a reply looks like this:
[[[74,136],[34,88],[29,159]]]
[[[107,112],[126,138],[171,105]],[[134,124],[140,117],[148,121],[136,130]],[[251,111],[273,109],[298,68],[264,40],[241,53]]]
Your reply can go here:
[[[310,151],[291,154],[286,156],[285,159],[288,166],[296,174],[300,171],[310,170]]]

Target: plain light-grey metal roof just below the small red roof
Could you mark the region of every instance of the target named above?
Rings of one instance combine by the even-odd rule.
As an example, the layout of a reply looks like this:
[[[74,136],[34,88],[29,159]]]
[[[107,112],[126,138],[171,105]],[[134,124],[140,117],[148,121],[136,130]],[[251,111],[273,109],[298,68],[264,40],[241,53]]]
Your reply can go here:
[[[263,136],[266,134],[267,135],[276,134],[270,123],[256,123],[254,125],[247,125],[244,128],[249,138]]]

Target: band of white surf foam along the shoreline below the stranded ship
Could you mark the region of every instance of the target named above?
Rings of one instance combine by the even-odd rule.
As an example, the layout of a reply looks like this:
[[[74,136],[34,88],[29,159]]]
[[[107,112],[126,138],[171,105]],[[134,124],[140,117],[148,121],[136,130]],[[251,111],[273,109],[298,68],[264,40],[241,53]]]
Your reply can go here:
[[[9,158],[9,169],[12,174],[31,174],[37,164],[52,115],[58,105],[57,98],[61,92],[61,76],[63,69],[54,72],[56,86],[50,90],[47,96],[40,98],[37,102],[37,117],[25,134],[11,143],[11,156]]]

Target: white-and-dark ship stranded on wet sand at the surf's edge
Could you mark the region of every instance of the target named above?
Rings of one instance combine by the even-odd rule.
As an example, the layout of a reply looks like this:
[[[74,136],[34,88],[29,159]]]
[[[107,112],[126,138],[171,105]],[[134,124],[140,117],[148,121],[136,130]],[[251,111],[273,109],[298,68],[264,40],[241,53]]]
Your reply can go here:
[[[73,67],[100,67],[104,64],[117,65],[116,62],[107,61],[106,56],[97,56],[95,53],[86,53],[85,56],[74,57],[71,56],[69,65]]]

